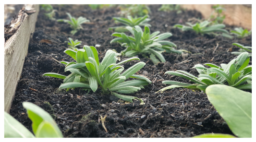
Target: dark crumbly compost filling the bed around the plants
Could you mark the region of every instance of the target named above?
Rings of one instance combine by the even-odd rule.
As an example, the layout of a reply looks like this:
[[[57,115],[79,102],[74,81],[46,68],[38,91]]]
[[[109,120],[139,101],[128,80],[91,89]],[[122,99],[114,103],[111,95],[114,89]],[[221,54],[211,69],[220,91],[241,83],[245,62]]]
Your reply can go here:
[[[191,83],[181,77],[164,74],[166,71],[182,70],[197,76],[197,71],[193,69],[195,64],[227,64],[236,57],[231,51],[239,49],[232,46],[232,43],[251,46],[252,37],[228,39],[222,36],[200,36],[190,31],[182,32],[172,26],[202,18],[201,13],[159,12],[159,7],[160,5],[149,5],[151,32],[171,32],[172,36],[167,40],[175,43],[178,49],[191,53],[163,53],[166,62],[158,65],[154,65],[150,59],[138,56],[146,65],[137,74],[148,77],[152,84],[130,95],[142,98],[145,105],[139,105],[136,100],[133,103],[123,102],[111,94],[102,94],[100,89],[95,93],[80,88],[59,91],[62,79],[42,77],[46,72],[63,75],[70,73],[64,72],[65,66],[59,63],[72,61],[71,57],[63,53],[68,47],[65,42],[68,37],[82,41],[82,45],[100,45],[97,47],[100,60],[108,49],[115,49],[117,52],[124,49],[117,43],[110,44],[115,37],[111,36],[114,31],[108,31],[109,27],[121,25],[112,20],[112,17],[119,17],[120,10],[91,10],[88,5],[53,5],[58,10],[56,19],[68,19],[66,12],[69,12],[74,17],[86,17],[90,23],[83,24],[84,29],[72,36],[72,29],[68,24],[48,20],[44,11],[39,12],[10,114],[32,131],[32,121],[22,106],[24,101],[32,102],[51,114],[64,137],[193,137],[212,132],[232,134],[204,92],[186,88],[156,92],[167,86],[162,84],[164,80]],[[227,25],[228,30],[232,28],[234,26]],[[138,61],[130,61],[123,66],[128,69],[136,62]],[[105,115],[107,132],[100,121],[100,116]]]

